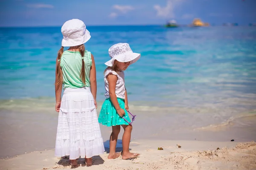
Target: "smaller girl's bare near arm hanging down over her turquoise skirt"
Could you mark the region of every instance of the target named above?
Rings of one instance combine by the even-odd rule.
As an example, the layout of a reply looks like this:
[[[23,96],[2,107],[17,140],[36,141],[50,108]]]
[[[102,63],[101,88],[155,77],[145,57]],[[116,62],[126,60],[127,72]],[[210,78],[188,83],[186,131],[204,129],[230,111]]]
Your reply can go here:
[[[113,103],[117,114],[122,117],[125,115],[125,111],[122,108],[120,108],[119,103],[117,101],[117,97],[116,97],[117,76],[113,74],[109,74],[107,77],[107,80],[108,80],[109,96],[110,96],[111,102]]]

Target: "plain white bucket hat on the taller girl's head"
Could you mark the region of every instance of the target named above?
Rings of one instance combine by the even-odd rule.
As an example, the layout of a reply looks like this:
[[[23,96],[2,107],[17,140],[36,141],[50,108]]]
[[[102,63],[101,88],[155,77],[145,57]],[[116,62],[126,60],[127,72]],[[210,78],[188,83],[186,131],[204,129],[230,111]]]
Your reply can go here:
[[[61,27],[61,33],[63,35],[61,46],[63,47],[82,45],[91,37],[84,22],[79,19],[66,21]]]

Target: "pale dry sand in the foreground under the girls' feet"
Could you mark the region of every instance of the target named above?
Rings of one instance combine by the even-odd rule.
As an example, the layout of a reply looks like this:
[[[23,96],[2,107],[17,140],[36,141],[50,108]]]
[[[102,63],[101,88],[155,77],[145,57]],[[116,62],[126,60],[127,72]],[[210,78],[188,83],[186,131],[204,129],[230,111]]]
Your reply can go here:
[[[177,147],[177,144],[181,148]],[[163,150],[157,150],[162,147]],[[81,170],[255,170],[256,143],[138,140],[131,142],[134,160],[109,160],[108,154],[93,157],[93,166]],[[67,158],[54,157],[54,150],[36,151],[0,161],[1,170],[70,169]]]

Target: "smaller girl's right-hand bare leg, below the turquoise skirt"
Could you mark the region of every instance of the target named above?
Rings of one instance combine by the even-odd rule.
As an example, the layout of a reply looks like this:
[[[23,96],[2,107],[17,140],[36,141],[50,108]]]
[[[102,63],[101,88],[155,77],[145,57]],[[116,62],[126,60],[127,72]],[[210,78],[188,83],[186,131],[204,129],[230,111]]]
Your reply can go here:
[[[139,156],[140,155],[139,153],[130,153],[130,151],[129,151],[132,126],[122,125],[122,127],[125,130],[123,137],[122,137],[122,145],[123,145],[122,159],[132,159],[134,157]]]

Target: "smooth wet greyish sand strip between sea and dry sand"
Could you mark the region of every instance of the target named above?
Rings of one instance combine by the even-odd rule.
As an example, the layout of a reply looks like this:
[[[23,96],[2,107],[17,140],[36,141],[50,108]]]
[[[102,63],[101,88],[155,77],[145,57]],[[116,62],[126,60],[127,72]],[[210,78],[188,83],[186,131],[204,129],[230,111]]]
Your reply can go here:
[[[132,108],[132,107],[131,107]],[[131,110],[130,108],[130,110]],[[178,108],[174,108],[177,110]],[[99,113],[99,108],[97,109]],[[203,114],[163,113],[140,111],[133,123],[131,142],[137,140],[185,140],[208,142],[256,141],[256,115],[232,119],[225,125],[193,127]],[[20,116],[22,115],[22,116]],[[58,113],[54,111],[17,112],[0,109],[0,159],[13,158],[38,150],[51,150],[55,147]],[[157,123],[155,122],[157,119]],[[168,120],[168,121],[166,121]],[[182,121],[181,121],[182,120]],[[147,127],[147,128],[145,128]],[[102,138],[106,144],[111,128],[100,125]],[[118,139],[122,139],[121,130]]]

